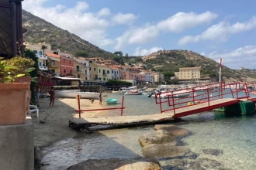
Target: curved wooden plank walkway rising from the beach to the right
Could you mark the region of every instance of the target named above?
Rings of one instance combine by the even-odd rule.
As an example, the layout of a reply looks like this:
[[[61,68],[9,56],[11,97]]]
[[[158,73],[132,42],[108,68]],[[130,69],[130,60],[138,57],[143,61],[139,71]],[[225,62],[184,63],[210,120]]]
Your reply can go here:
[[[81,114],[81,118],[78,115],[70,120],[71,124],[80,124],[84,127],[89,127],[97,124],[104,125],[132,125],[132,124],[152,124],[160,121],[173,120],[177,117],[183,117],[191,114],[198,114],[202,111],[213,110],[214,108],[237,104],[240,100],[232,98],[217,99],[202,104],[195,104],[188,107],[178,108],[162,114],[149,114],[149,115],[137,115],[137,116],[118,116],[118,117],[85,117]]]

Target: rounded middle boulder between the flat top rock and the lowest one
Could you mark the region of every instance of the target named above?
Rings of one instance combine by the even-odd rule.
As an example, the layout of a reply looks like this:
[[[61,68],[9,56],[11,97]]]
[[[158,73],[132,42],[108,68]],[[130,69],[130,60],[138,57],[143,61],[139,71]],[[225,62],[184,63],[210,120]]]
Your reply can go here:
[[[165,130],[153,131],[143,134],[139,137],[138,141],[140,142],[141,147],[149,144],[163,144],[166,142],[172,142],[172,145],[176,145],[175,135]]]

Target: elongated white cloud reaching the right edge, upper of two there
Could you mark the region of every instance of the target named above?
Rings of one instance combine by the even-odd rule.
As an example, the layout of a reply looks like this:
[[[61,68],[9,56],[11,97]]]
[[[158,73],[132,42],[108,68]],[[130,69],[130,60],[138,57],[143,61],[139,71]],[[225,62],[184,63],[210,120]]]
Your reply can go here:
[[[230,25],[228,22],[220,22],[206,29],[205,32],[196,36],[184,36],[179,39],[179,45],[185,45],[192,42],[199,42],[202,40],[219,40],[227,41],[232,34],[246,32],[256,28],[256,17],[253,17],[248,22],[237,22]]]

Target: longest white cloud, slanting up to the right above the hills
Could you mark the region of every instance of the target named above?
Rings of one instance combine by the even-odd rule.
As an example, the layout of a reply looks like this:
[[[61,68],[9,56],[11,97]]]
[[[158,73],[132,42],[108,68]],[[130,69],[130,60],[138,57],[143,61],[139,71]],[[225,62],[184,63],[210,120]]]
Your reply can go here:
[[[161,32],[182,32],[185,29],[190,29],[202,24],[208,24],[216,19],[217,15],[213,12],[204,12],[195,14],[194,12],[177,14],[158,22],[156,25],[147,23],[143,27],[129,30],[119,36],[115,49],[121,49],[126,44],[143,44],[160,36]]]

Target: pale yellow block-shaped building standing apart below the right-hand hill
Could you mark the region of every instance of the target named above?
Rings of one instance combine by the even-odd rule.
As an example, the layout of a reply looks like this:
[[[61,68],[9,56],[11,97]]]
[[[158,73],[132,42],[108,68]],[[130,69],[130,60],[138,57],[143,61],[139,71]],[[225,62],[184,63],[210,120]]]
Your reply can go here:
[[[201,67],[180,68],[178,72],[175,72],[175,76],[179,83],[199,83],[200,70]]]

